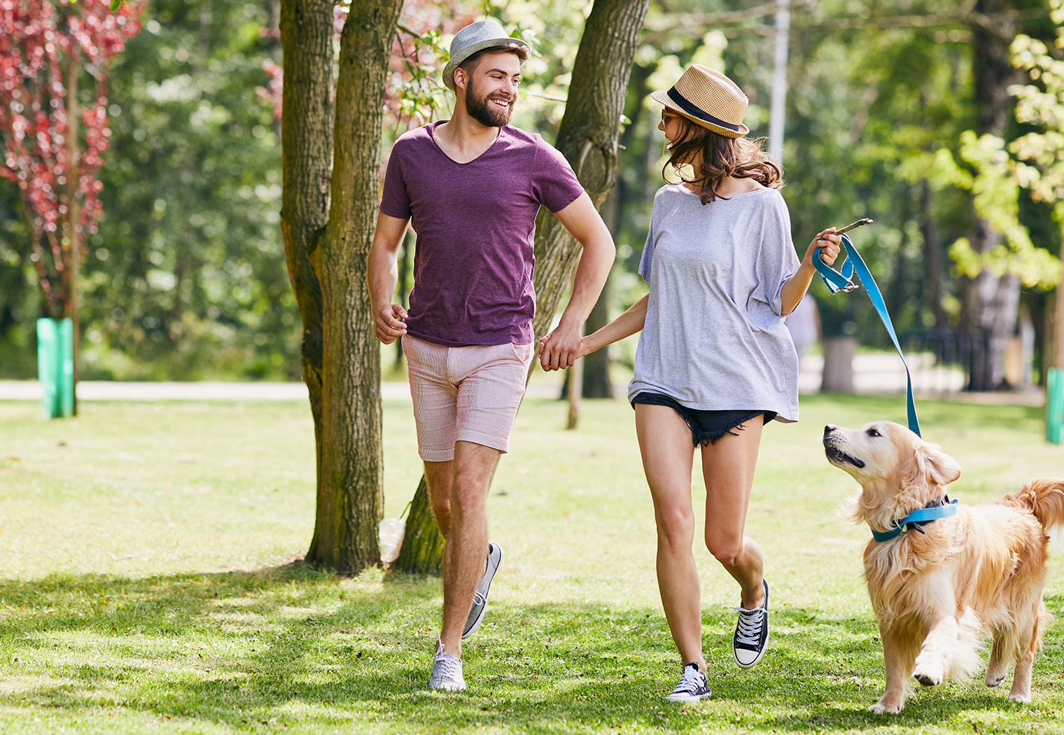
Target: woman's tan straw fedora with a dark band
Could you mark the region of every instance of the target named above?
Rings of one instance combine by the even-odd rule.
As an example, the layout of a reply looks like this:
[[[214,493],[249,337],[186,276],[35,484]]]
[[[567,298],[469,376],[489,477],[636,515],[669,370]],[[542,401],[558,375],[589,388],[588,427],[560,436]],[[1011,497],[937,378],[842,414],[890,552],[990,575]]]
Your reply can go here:
[[[650,97],[714,133],[737,138],[750,132],[743,124],[749,102],[735,82],[708,66],[692,64],[668,91]]]

